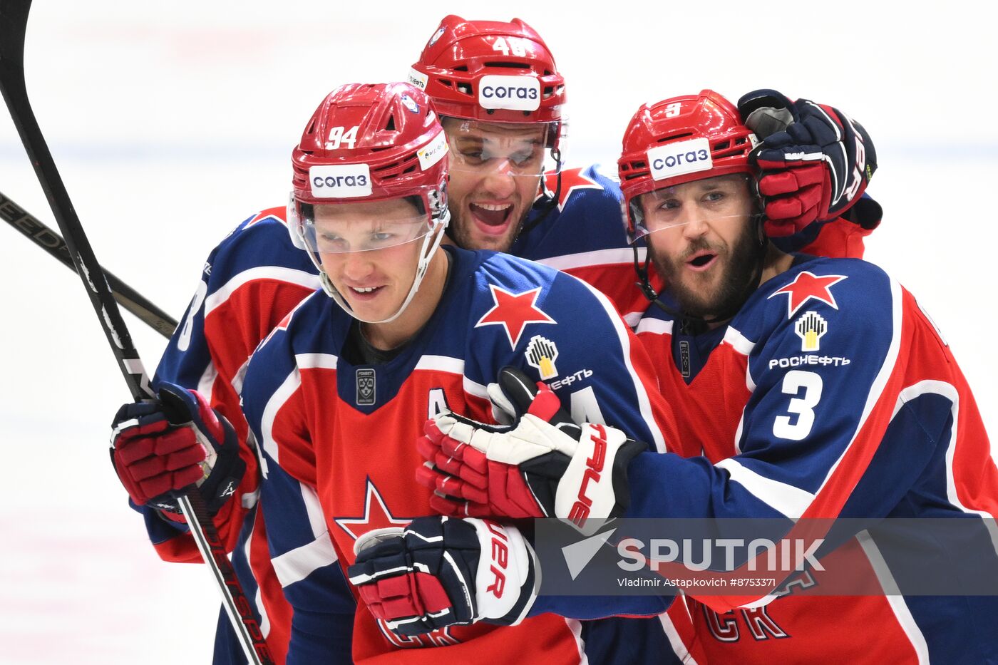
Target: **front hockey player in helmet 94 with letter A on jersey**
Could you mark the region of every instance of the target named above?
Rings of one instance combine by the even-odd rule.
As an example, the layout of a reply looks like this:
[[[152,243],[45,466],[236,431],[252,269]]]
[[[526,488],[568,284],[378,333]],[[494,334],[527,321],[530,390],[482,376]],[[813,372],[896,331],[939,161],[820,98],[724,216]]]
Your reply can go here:
[[[329,142],[333,127],[356,128],[352,145]],[[515,602],[529,598],[520,589],[534,580],[517,577],[527,571],[523,561],[495,552],[507,542],[526,547],[516,527],[421,517],[433,513],[432,493],[413,477],[412,441],[440,410],[490,417],[488,379],[515,364],[557,378],[565,408],[620,423],[663,449],[672,413],[653,396],[647,357],[609,300],[586,283],[507,255],[439,247],[449,220],[446,140],[415,88],[338,88],[309,120],[292,162],[288,225],[320,271],[322,289],[267,336],[246,371],[244,411],[264,473],[279,464],[314,491],[320,512],[313,518],[338,559],[325,567],[345,568],[386,528],[416,519],[461,548],[460,565],[502,569],[501,579],[490,584],[482,576],[470,591],[471,614],[437,616],[440,630],[432,623],[399,628],[359,604],[354,661],[436,662],[433,649],[412,647],[447,646],[447,657],[459,661],[582,662],[591,645],[581,643],[578,622],[524,619],[529,606]],[[599,355],[589,352],[592,344]],[[626,465],[645,447],[618,443],[609,464]],[[302,542],[301,525],[285,519],[282,498],[270,491],[267,477],[260,506],[279,560],[310,546],[314,525]],[[288,594],[296,637],[299,604],[310,616],[335,602],[324,600],[334,591],[328,575],[311,579],[312,570],[323,572],[311,563],[298,569],[300,593]],[[493,625],[448,625],[472,618]],[[327,639],[314,625],[309,633]],[[300,657],[298,648],[308,645],[292,639],[288,661]]]

